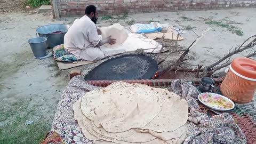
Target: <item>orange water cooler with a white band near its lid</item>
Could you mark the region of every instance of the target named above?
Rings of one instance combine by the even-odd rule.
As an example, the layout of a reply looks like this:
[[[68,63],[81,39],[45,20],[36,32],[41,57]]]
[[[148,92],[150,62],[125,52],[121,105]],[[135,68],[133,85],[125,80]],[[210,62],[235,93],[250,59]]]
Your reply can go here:
[[[256,90],[256,61],[249,58],[234,59],[220,90],[234,102],[250,102]]]

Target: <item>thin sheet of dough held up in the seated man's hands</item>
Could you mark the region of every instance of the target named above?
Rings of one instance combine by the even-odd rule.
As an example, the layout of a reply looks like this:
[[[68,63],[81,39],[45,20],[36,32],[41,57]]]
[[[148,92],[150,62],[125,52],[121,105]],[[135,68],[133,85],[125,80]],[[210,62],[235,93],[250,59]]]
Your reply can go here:
[[[102,39],[105,39],[109,36],[111,36],[111,38],[116,39],[116,43],[113,45],[105,44],[105,46],[107,46],[107,47],[118,46],[118,45],[122,44],[128,37],[128,34],[126,33],[124,27],[121,26],[119,23],[115,23],[112,26],[102,27],[99,29],[101,31]]]

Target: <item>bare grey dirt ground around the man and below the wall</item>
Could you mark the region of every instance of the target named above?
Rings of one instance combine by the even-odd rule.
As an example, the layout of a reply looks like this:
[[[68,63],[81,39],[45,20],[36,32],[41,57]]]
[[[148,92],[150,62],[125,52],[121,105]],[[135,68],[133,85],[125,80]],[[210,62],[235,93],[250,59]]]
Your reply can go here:
[[[39,26],[51,23],[71,25],[75,18],[62,18],[57,21],[52,19],[50,14],[37,14],[36,9],[10,12],[1,10],[0,143],[1,140],[4,141],[1,138],[3,130],[10,129],[9,124],[16,121],[15,117],[21,114],[25,117],[17,120],[20,124],[13,129],[24,127],[28,119],[32,120],[35,125],[44,124],[45,127],[37,127],[35,130],[35,132],[41,133],[41,135],[35,136],[40,140],[43,138],[42,135],[51,129],[58,100],[69,81],[70,69],[59,70],[52,58],[34,59],[28,39],[36,37],[36,28]],[[184,47],[189,46],[197,35],[203,33],[207,27],[211,27],[212,29],[192,49],[190,55],[193,59],[189,60],[191,65],[199,63],[206,66],[221,58],[231,47],[235,47],[248,37],[255,35],[255,11],[256,9],[229,9],[143,13],[129,15],[125,19],[101,19],[98,25],[109,26],[119,22],[123,26],[128,26],[136,22],[148,23],[149,21],[170,23],[177,28],[187,28],[186,34],[182,34],[185,39],[179,41],[179,44]],[[243,36],[231,33],[226,27],[206,24],[205,22],[209,19],[235,23],[229,25],[243,31]],[[237,22],[242,24],[236,24]],[[166,65],[172,60],[170,58]],[[23,137],[29,132],[24,133],[22,133]],[[38,138],[31,142],[37,143]]]

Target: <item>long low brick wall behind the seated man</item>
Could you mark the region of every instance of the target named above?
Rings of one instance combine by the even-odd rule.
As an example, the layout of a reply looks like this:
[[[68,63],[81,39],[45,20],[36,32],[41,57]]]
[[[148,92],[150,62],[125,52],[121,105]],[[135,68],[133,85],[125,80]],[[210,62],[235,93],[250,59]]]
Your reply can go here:
[[[57,1],[60,17],[84,14],[87,5],[95,5],[101,14],[158,11],[209,10],[256,6],[256,1],[240,0],[52,0]]]

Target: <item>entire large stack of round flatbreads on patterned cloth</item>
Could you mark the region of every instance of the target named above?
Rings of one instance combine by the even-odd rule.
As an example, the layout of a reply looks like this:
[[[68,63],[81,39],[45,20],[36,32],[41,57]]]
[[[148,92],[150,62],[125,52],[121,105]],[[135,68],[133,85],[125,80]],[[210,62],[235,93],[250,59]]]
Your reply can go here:
[[[94,143],[182,143],[187,101],[166,89],[115,82],[73,105],[75,119]]]

